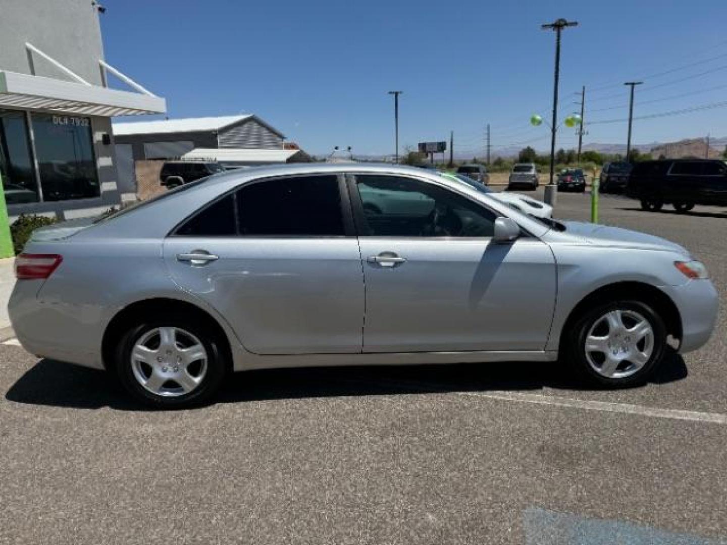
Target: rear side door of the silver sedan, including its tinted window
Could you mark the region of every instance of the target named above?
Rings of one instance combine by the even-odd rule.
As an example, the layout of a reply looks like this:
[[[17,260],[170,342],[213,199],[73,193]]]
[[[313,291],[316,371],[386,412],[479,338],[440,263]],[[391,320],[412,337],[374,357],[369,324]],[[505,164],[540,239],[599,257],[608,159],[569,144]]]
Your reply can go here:
[[[364,279],[343,177],[246,182],[177,227],[164,259],[251,352],[361,352]]]

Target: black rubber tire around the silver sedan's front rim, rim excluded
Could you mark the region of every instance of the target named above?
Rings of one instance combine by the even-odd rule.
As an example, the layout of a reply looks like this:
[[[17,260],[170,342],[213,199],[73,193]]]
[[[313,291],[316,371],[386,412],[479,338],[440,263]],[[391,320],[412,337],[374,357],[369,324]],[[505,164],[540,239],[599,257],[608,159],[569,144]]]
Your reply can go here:
[[[598,373],[589,362],[585,344],[590,329],[598,323],[607,312],[612,310],[632,311],[645,318],[651,326],[654,336],[654,347],[646,363],[630,376],[624,378],[607,378]],[[624,299],[593,307],[576,320],[571,322],[568,330],[563,334],[563,355],[574,374],[582,382],[601,388],[629,388],[645,384],[662,364],[667,350],[667,329],[664,320],[654,310],[643,302],[635,299]]]

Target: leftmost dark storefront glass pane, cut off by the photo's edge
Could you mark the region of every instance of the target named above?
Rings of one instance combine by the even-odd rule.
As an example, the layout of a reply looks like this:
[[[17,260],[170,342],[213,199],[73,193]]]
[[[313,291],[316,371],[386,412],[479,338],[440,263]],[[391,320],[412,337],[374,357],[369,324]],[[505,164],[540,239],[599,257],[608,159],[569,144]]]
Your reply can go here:
[[[0,110],[0,174],[9,205],[38,202],[25,113]]]

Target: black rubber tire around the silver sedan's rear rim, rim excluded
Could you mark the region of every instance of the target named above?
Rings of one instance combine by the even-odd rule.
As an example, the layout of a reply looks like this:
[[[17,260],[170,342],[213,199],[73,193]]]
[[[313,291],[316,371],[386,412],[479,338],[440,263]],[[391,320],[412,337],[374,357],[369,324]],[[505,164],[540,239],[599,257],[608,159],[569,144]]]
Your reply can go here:
[[[134,376],[132,350],[145,334],[160,327],[173,327],[195,336],[206,351],[206,372],[198,386],[176,397],[155,395]],[[137,400],[154,408],[188,408],[203,403],[217,391],[228,370],[228,350],[225,339],[197,317],[177,314],[153,315],[126,327],[114,352],[116,374],[124,388]]]

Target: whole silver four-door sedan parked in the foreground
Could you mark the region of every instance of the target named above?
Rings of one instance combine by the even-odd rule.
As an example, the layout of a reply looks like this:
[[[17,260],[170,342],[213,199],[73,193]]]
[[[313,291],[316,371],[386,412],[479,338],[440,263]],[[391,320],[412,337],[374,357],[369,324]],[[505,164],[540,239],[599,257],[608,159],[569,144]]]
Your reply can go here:
[[[366,211],[378,191],[430,206]],[[667,336],[680,353],[707,342],[718,304],[675,243],[364,163],[217,174],[37,230],[15,267],[26,350],[105,369],[158,407],[286,366],[560,360],[626,387],[653,376]]]

